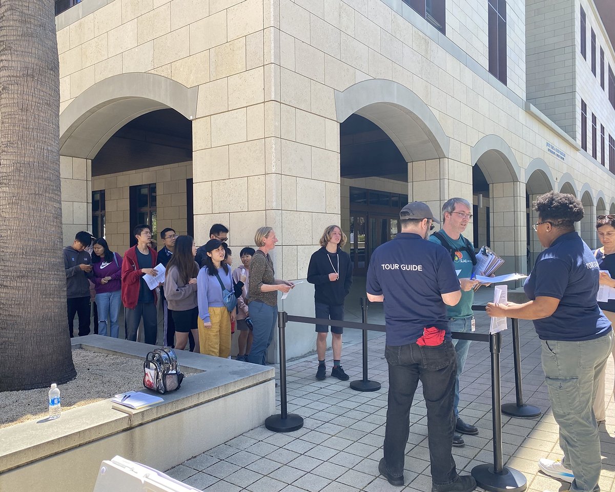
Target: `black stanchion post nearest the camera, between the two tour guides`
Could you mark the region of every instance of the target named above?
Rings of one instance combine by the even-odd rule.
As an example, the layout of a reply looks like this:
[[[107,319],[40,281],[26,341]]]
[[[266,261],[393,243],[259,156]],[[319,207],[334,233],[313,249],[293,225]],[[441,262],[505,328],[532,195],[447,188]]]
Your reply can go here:
[[[523,492],[527,488],[525,475],[504,466],[502,462],[502,413],[500,392],[501,333],[490,336],[491,352],[491,419],[493,422],[493,465],[482,464],[472,468],[472,477],[478,486],[493,492]]]

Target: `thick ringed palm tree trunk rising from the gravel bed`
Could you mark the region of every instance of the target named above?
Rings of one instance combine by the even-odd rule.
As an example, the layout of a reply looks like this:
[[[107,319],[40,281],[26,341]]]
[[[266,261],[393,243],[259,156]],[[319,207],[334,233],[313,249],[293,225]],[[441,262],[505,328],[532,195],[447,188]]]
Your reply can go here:
[[[0,0],[0,391],[76,376],[66,323],[54,0]]]

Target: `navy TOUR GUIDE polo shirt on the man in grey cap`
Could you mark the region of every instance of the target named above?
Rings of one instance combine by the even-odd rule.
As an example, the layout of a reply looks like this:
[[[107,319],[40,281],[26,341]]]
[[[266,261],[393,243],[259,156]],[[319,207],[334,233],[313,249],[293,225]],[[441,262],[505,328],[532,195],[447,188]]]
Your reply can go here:
[[[423,328],[445,330],[451,339],[442,294],[459,290],[450,253],[418,234],[401,232],[370,258],[367,292],[384,294],[386,344],[415,343]]]

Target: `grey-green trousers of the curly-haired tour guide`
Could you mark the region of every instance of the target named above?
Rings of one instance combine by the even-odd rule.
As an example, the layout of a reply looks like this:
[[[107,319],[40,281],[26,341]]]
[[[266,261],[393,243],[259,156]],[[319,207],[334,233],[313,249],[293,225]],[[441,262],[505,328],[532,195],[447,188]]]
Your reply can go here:
[[[570,490],[598,491],[602,463],[592,403],[600,373],[613,349],[613,331],[593,340],[541,340],[541,344],[544,380],[553,416],[560,426],[563,466],[574,473]]]

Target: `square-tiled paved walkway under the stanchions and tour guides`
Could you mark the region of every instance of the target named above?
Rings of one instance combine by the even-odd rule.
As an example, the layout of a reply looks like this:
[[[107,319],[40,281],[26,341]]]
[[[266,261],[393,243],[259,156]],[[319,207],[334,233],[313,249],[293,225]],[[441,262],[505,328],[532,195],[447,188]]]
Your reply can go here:
[[[376,311],[370,321],[378,322],[375,319],[381,319],[381,313],[378,315]],[[487,331],[488,319],[484,313],[477,313],[477,327],[478,331]],[[538,406],[544,413],[536,419],[502,415],[504,463],[525,474],[529,491],[568,490],[567,483],[538,471],[539,458],[561,457],[558,427],[550,412],[540,344],[532,323],[520,322],[520,333],[523,396],[527,403]],[[350,389],[347,382],[333,378],[317,381],[314,356],[288,362],[288,411],[303,416],[304,426],[300,430],[277,434],[264,425],[257,427],[211,450],[204,450],[199,456],[169,470],[169,475],[212,492],[430,491],[426,407],[420,386],[410,415],[405,485],[393,487],[378,474],[386,421],[387,363],[384,336],[372,333],[370,337],[368,376],[382,384],[380,391],[357,392]],[[356,336],[353,339],[343,347],[343,366],[351,381],[362,378],[362,346],[356,343]],[[510,332],[505,332],[501,354],[503,402],[515,400],[511,341]],[[327,359],[331,359],[330,352],[327,352]],[[611,360],[606,387],[613,387],[613,376]],[[478,464],[493,463],[491,365],[485,343],[471,344],[461,389],[461,416],[480,429],[477,436],[464,437],[464,447],[453,448],[459,472],[469,473]],[[277,404],[279,411],[279,388]],[[249,410],[238,408],[231,418],[240,418],[244,411]],[[603,491],[611,491],[615,490],[613,400],[609,402],[606,419],[606,427],[600,427],[604,457],[600,487]]]

